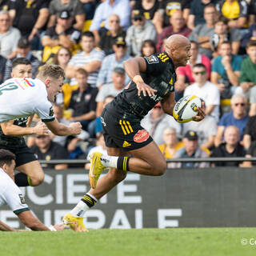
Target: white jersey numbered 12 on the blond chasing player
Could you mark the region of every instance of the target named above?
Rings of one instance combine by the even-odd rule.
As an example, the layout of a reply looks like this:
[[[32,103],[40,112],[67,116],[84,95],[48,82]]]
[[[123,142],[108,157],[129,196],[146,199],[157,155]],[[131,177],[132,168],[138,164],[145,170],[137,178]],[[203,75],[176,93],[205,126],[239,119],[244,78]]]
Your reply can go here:
[[[0,85],[0,122],[38,114],[42,122],[54,120],[46,85],[38,78],[10,78]]]

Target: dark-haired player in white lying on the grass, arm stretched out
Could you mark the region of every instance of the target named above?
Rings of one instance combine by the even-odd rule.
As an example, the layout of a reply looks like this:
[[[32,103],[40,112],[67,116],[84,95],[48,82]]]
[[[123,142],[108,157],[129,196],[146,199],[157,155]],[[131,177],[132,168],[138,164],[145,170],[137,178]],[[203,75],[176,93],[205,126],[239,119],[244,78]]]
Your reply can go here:
[[[14,183],[15,155],[9,150],[0,150],[0,206],[9,205],[21,222],[31,230],[63,230],[64,226],[55,225],[47,227],[35,218],[26,205],[22,191]],[[0,230],[16,231],[3,222],[0,222]]]

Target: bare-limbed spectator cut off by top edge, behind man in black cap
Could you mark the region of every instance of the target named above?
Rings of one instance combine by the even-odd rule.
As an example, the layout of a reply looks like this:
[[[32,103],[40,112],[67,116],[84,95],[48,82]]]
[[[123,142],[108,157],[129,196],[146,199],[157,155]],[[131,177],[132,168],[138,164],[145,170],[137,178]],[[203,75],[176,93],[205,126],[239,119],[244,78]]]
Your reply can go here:
[[[63,10],[67,10],[75,21],[74,28],[82,30],[85,14],[82,2],[79,0],[52,0],[49,6],[50,19],[47,26],[54,26],[56,18],[60,16]]]

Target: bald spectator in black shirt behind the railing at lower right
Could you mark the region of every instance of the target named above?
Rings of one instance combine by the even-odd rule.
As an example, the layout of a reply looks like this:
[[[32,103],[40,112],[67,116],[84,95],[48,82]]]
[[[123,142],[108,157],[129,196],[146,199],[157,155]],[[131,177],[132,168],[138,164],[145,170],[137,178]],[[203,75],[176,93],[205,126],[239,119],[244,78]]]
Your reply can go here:
[[[246,150],[239,143],[239,129],[237,126],[227,126],[224,133],[224,142],[213,150],[212,158],[243,158]],[[239,166],[239,162],[214,162],[213,166]]]

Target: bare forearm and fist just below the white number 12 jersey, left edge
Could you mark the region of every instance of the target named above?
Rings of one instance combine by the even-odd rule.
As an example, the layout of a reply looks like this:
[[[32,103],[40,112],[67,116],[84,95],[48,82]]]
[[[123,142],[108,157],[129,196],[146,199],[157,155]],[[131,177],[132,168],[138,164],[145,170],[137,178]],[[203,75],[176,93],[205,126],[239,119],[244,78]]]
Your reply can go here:
[[[38,124],[34,127],[21,127],[14,125],[14,120],[10,120],[9,122],[2,122],[1,128],[3,134],[6,136],[25,136],[25,135],[47,135],[48,128],[43,122],[38,122]]]

